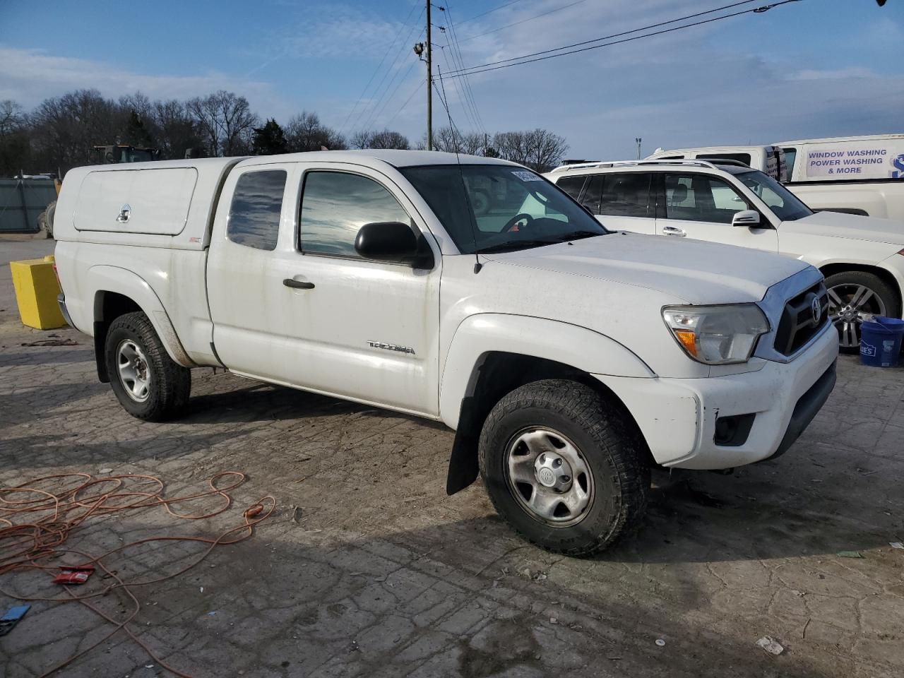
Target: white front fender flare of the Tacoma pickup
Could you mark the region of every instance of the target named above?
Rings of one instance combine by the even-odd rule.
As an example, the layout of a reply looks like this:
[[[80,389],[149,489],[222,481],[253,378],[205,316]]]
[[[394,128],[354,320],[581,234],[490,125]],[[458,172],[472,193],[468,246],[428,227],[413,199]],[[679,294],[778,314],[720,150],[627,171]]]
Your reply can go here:
[[[457,428],[462,400],[473,393],[485,356],[495,352],[543,358],[589,374],[655,376],[624,344],[587,327],[532,315],[469,315],[452,337],[439,382],[439,417],[449,428]]]

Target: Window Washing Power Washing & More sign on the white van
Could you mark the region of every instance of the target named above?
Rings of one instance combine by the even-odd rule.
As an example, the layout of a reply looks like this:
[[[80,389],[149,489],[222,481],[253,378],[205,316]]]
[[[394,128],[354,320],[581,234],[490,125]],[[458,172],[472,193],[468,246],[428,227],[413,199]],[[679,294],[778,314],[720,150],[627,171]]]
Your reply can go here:
[[[893,146],[839,144],[808,149],[806,177],[904,179],[904,143]]]

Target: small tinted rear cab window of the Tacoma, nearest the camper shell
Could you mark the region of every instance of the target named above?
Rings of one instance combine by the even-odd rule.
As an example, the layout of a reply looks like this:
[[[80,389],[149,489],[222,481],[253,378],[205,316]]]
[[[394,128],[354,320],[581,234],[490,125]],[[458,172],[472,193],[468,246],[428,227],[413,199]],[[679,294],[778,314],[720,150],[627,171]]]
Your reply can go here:
[[[275,250],[285,189],[284,170],[242,174],[232,193],[226,237],[257,250]]]

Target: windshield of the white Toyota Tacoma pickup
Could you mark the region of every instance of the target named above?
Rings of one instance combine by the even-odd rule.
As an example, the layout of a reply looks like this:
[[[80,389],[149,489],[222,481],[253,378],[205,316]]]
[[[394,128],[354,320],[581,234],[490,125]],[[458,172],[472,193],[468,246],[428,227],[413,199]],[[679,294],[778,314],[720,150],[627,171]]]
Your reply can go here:
[[[566,193],[523,167],[428,165],[400,172],[463,254],[523,250],[607,233]]]

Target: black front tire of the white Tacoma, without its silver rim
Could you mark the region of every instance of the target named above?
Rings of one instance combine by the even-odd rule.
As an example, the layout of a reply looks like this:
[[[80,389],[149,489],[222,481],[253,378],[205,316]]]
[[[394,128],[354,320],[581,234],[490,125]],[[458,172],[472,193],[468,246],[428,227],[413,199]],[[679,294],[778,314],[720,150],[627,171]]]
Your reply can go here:
[[[577,381],[532,381],[491,410],[478,457],[496,511],[524,539],[548,551],[588,556],[635,532],[650,489],[645,441],[618,402],[604,400]],[[524,428],[560,431],[580,449],[593,475],[594,498],[579,523],[551,526],[519,504],[506,480],[509,441]]]

